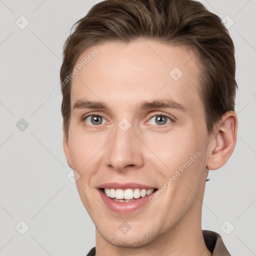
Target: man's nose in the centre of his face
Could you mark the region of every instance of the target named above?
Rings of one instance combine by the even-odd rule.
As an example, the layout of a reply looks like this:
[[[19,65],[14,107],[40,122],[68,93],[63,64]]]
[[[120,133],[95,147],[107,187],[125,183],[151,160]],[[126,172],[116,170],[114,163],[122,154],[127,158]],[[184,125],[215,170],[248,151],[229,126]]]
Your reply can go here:
[[[107,143],[105,163],[116,171],[137,169],[143,165],[141,141],[133,134],[133,126],[123,131],[118,126],[115,135]]]

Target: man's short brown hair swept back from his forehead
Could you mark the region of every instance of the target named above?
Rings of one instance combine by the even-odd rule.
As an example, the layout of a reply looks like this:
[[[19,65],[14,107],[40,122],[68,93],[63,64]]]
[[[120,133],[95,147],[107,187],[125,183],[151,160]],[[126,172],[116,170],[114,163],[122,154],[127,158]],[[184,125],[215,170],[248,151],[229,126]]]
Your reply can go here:
[[[75,22],[65,41],[61,82],[73,71],[79,55],[105,41],[132,42],[150,38],[169,45],[187,45],[200,59],[199,95],[208,134],[221,115],[234,111],[234,45],[220,17],[194,0],[104,0]],[[73,28],[72,27],[72,28]],[[72,29],[71,29],[72,30]],[[68,136],[71,80],[61,87],[61,113]]]

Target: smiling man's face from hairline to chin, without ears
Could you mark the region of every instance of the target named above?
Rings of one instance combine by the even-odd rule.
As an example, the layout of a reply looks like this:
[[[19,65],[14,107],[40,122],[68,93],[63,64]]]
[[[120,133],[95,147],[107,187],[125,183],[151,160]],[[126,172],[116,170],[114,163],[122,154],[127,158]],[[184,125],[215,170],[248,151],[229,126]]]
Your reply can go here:
[[[97,235],[141,246],[200,221],[209,138],[198,60],[184,46],[137,40],[88,48],[77,64],[95,48],[72,79],[64,150]]]

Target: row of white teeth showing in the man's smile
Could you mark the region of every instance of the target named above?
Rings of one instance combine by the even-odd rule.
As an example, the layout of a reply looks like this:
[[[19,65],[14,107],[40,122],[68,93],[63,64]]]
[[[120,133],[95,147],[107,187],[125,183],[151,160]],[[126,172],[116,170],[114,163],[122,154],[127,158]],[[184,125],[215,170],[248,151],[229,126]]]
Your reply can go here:
[[[131,188],[122,190],[114,188],[104,188],[106,196],[113,198],[115,201],[133,201],[139,197],[145,197],[153,192],[154,189],[139,189],[135,188],[133,191]],[[133,199],[134,198],[134,199]]]

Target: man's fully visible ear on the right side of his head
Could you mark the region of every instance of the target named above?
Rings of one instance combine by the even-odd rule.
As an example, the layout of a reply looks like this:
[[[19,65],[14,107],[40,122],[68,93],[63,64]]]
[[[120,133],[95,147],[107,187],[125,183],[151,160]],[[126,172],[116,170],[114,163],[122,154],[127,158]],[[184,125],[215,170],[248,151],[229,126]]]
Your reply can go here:
[[[238,120],[234,111],[225,112],[216,125],[216,136],[210,141],[207,168],[215,170],[223,166],[233,152],[237,137]]]

